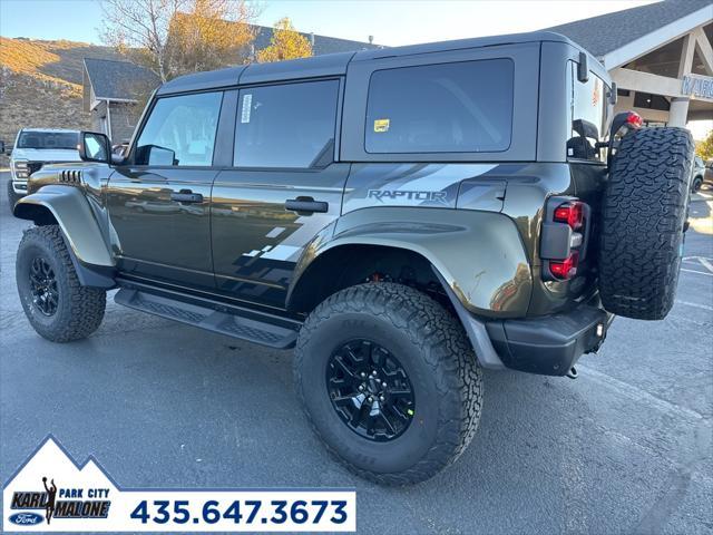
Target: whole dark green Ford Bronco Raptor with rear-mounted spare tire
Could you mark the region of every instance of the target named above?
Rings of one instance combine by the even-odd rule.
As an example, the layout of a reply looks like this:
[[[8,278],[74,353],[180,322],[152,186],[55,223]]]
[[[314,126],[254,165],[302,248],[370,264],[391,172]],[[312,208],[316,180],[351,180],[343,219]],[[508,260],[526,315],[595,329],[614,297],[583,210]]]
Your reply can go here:
[[[14,215],[37,332],[117,303],[277,349],[326,447],[384,484],[463,451],[482,369],[575,377],[615,314],[672,307],[693,144],[614,115],[597,60],[536,32],[184,76],[125,156],[80,135]]]

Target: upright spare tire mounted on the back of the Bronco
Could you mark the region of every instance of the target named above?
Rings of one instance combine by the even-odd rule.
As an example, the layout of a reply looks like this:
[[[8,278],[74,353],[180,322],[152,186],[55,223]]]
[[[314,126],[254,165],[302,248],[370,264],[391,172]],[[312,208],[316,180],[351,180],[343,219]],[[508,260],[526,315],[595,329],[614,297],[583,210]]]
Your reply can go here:
[[[673,307],[692,162],[685,128],[642,128],[621,140],[599,232],[599,294],[609,312],[662,320]]]

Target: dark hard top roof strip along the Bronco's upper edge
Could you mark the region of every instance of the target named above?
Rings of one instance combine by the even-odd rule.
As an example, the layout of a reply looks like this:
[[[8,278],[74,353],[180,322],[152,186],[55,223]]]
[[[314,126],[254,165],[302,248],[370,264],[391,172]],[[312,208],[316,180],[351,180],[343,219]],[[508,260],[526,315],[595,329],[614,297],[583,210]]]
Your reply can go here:
[[[339,76],[346,74],[350,61],[367,61],[370,59],[413,56],[418,54],[445,52],[467,48],[492,47],[497,45],[514,45],[519,42],[557,41],[566,42],[579,48],[568,38],[551,31],[533,31],[528,33],[511,33],[507,36],[477,37],[452,41],[428,42],[424,45],[409,45],[406,47],[382,48],[378,50],[362,50],[360,52],[340,52],[314,56],[312,58],[276,61],[273,64],[251,64],[248,66],[231,67],[227,69],[196,72],[175,78],[164,84],[158,95],[214,89],[266,81],[295,80],[320,76]]]

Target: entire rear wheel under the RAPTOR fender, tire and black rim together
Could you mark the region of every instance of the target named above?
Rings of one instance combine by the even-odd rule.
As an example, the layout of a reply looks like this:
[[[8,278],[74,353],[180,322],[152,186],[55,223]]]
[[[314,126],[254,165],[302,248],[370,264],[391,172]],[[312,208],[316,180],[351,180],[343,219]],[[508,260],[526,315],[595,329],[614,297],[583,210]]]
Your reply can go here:
[[[358,284],[320,303],[300,330],[294,377],[328,450],[384,485],[433,476],[480,419],[482,374],[463,328],[402,284]]]

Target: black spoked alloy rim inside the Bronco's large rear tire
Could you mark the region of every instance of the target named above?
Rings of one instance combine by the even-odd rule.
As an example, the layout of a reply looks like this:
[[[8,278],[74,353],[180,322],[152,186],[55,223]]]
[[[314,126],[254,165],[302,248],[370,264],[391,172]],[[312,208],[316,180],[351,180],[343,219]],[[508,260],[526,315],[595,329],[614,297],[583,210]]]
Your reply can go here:
[[[388,349],[371,340],[351,340],[332,353],[326,389],[341,420],[369,440],[399,437],[416,410],[404,368]]]

